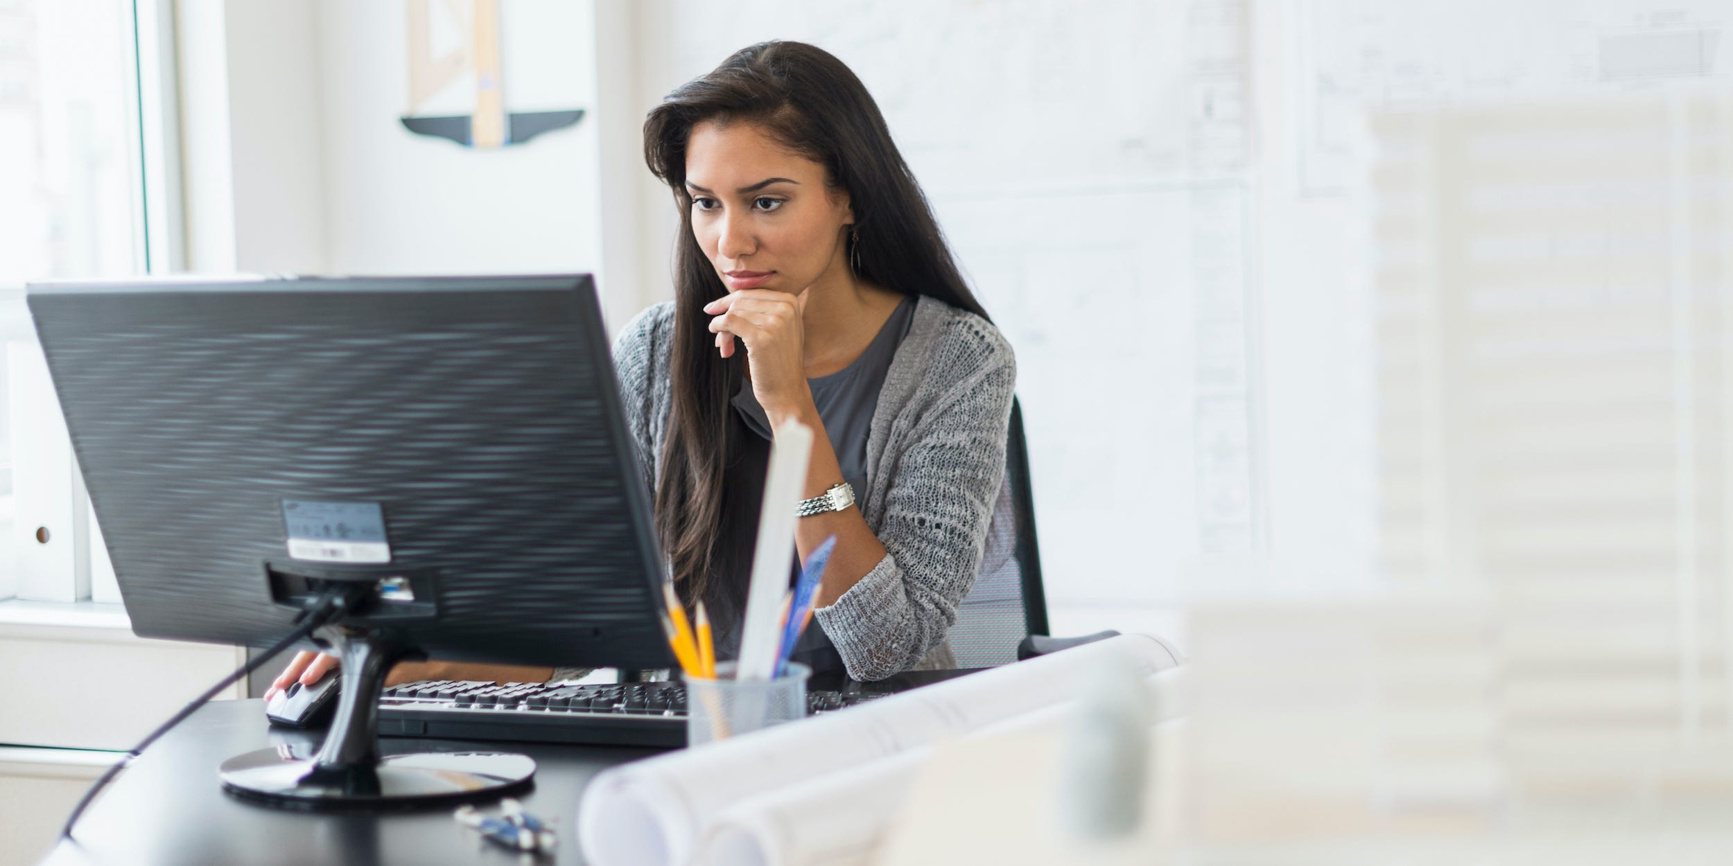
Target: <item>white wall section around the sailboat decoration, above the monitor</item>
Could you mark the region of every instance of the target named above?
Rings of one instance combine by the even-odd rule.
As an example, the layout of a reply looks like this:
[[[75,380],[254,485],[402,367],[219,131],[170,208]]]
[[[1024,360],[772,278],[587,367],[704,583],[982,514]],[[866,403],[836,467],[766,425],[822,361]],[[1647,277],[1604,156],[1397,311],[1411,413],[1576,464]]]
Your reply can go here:
[[[589,2],[504,3],[508,109],[587,114],[494,151],[399,123],[404,3],[184,0],[178,19],[194,270],[603,270]]]

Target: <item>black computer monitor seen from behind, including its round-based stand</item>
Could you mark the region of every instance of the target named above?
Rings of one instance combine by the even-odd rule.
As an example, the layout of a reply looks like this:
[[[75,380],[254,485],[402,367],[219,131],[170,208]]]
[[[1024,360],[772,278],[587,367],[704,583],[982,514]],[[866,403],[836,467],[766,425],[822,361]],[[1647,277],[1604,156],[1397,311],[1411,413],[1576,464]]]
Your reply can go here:
[[[402,658],[672,663],[587,275],[40,284],[28,303],[137,634],[267,646],[352,594],[315,632],[343,660],[319,757],[237,757],[230,792],[527,785],[522,755],[378,759]]]

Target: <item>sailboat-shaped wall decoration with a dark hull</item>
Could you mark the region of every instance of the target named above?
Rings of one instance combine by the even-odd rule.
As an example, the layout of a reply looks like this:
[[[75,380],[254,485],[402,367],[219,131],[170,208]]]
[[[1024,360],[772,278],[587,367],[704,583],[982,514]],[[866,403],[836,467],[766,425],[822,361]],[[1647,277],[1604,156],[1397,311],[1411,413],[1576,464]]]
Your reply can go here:
[[[418,135],[464,147],[523,144],[572,126],[584,109],[511,111],[501,0],[409,0],[409,113]],[[522,7],[520,7],[522,9]]]

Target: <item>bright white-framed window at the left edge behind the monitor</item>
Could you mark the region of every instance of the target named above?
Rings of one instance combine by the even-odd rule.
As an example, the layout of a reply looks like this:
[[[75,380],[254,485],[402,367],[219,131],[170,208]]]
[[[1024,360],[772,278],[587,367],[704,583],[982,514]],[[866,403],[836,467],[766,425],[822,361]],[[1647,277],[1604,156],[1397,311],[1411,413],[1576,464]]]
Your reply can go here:
[[[0,0],[0,598],[90,592],[94,521],[24,284],[147,270],[142,130],[161,125],[142,123],[137,47],[140,35],[154,45],[159,12],[132,0]],[[144,76],[153,88],[161,78]]]

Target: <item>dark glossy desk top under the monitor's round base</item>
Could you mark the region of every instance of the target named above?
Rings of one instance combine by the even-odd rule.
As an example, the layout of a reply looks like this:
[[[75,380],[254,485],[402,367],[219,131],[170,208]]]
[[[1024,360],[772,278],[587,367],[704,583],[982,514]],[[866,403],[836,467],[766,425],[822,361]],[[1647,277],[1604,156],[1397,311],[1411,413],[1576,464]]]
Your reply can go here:
[[[962,670],[901,674],[934,682]],[[915,682],[910,682],[915,684]],[[553,743],[381,738],[386,755],[404,752],[520,752],[535,759],[535,790],[525,809],[555,821],[553,857],[520,861],[458,824],[451,809],[350,814],[291,812],[224,793],[217,766],[256,748],[289,746],[310,755],[324,731],[281,731],[265,724],[258,700],[215,701],[147,748],[114,779],[43,866],[305,866],[305,864],[579,864],[572,821],[589,779],[655,748]],[[116,712],[120,712],[116,708]]]

